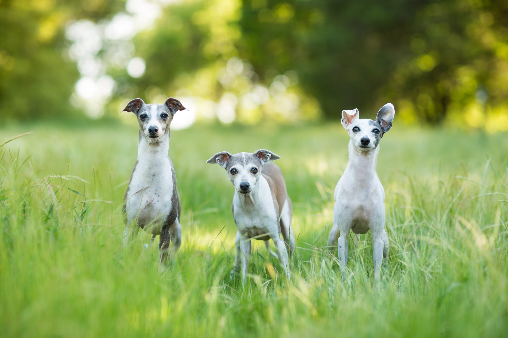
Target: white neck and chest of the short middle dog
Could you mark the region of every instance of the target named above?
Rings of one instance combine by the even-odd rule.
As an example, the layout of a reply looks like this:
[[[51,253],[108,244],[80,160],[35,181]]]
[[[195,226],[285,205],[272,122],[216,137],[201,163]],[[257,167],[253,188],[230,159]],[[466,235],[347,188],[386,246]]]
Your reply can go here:
[[[236,227],[245,237],[264,239],[266,234],[276,234],[278,229],[278,215],[275,212],[274,201],[270,192],[268,181],[262,177],[259,181],[259,191],[256,198],[239,196],[235,192],[233,197],[234,217]],[[242,203],[240,199],[247,199]],[[261,236],[261,237],[258,237]]]

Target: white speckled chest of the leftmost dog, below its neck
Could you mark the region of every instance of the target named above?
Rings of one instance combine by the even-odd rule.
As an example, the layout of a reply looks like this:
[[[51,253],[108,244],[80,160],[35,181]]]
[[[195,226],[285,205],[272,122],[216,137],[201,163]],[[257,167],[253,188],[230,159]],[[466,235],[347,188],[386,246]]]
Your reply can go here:
[[[173,176],[169,159],[160,163],[144,161],[133,173],[126,203],[128,221],[136,219],[144,229],[157,234],[168,216],[173,197]]]

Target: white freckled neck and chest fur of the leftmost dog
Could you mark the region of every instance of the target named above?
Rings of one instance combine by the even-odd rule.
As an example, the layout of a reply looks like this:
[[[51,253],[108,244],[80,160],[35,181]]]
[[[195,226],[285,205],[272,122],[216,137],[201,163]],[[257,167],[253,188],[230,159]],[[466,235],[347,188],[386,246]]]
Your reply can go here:
[[[146,232],[158,235],[171,210],[172,169],[168,158],[169,137],[160,146],[143,137],[138,147],[138,164],[129,185],[126,213],[128,224],[137,218]]]

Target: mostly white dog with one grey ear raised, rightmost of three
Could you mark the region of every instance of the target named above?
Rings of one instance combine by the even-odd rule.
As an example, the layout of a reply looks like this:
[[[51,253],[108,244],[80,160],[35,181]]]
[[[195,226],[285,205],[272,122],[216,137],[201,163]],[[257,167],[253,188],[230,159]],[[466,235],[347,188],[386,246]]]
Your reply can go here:
[[[388,256],[385,190],[377,177],[376,159],[379,141],[392,127],[394,115],[395,108],[391,103],[379,109],[375,121],[359,119],[358,109],[342,110],[342,126],[351,137],[348,146],[349,163],[335,187],[333,228],[328,237],[329,246],[338,243],[342,279],[347,266],[350,230],[354,234],[366,234],[370,230],[376,280],[380,277],[382,258]]]

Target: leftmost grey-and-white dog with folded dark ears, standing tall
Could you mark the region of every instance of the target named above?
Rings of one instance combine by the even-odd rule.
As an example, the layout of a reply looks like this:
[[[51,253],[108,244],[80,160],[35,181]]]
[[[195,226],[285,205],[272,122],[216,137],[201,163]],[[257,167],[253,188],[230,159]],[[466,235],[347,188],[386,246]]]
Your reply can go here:
[[[131,226],[133,236],[139,228],[152,234],[152,241],[160,235],[162,264],[166,263],[170,240],[172,252],[181,243],[180,197],[168,151],[171,121],[178,110],[184,109],[180,101],[168,98],[164,104],[145,104],[142,99],[134,99],[122,110],[133,112],[139,124],[138,160],[123,197],[124,245]]]

